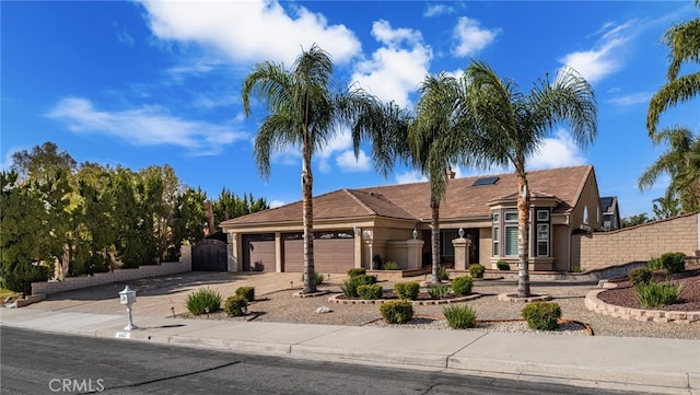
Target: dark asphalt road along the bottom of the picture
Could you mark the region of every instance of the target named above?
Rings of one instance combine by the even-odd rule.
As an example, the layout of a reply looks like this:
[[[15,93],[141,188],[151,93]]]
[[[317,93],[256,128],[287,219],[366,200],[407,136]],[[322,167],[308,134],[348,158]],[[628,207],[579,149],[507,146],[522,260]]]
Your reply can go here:
[[[5,394],[631,394],[0,329]]]

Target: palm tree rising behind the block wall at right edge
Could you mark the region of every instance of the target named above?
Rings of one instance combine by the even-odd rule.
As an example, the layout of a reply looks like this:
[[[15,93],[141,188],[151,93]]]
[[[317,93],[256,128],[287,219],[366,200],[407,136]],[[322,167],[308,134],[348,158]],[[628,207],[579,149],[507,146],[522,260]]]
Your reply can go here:
[[[639,178],[640,190],[648,190],[662,174],[670,176],[665,199],[680,198],[684,212],[700,210],[700,136],[693,137],[682,126],[665,128],[653,138],[654,144],[666,142],[663,153]]]

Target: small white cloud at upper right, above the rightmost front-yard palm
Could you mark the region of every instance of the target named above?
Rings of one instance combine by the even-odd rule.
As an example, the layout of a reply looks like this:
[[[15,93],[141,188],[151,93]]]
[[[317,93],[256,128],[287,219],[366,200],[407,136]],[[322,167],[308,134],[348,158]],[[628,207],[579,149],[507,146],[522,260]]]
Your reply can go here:
[[[559,61],[570,66],[588,82],[595,83],[622,68],[622,48],[630,39],[627,30],[631,22],[619,26],[607,23],[602,31],[607,31],[590,50],[564,55]]]

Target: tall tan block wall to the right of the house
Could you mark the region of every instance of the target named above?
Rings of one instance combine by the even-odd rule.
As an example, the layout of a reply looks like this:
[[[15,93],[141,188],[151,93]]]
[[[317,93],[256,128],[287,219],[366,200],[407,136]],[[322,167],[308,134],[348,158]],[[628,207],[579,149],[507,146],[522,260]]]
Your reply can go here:
[[[572,266],[594,270],[651,256],[681,252],[696,256],[700,251],[699,213],[654,221],[612,232],[574,235],[571,240]]]

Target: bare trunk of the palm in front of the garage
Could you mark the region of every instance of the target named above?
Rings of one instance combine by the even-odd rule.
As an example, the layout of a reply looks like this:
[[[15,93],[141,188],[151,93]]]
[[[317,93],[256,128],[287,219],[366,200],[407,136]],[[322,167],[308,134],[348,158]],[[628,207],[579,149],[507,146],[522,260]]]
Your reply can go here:
[[[314,276],[314,207],[313,174],[311,172],[311,146],[304,144],[302,169],[302,207],[304,226],[304,289],[302,293],[316,292]]]

